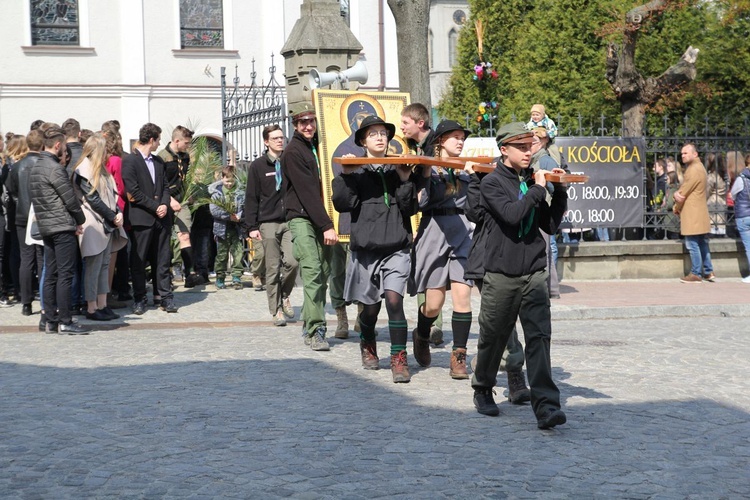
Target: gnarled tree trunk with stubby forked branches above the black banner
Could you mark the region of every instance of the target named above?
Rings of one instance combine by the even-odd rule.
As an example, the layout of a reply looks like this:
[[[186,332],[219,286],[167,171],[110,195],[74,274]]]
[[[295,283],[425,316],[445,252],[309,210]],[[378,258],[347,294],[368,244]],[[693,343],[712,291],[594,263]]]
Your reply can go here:
[[[659,77],[643,78],[635,65],[635,46],[638,32],[649,18],[660,15],[668,0],[651,2],[631,9],[626,15],[624,40],[621,47],[609,44],[605,78],[615,91],[622,106],[623,134],[626,137],[643,135],[646,107],[656,103],[695,79],[695,60],[698,49],[688,47],[680,61]]]

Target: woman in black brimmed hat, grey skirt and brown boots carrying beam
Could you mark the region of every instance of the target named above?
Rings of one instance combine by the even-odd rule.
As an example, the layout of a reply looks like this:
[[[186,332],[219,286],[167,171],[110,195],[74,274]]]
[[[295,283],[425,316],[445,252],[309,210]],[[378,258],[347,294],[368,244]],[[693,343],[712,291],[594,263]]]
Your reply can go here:
[[[368,116],[357,130],[355,142],[363,146],[372,164],[344,168],[333,179],[333,206],[351,213],[351,261],[347,268],[344,299],[364,307],[359,314],[362,366],[377,370],[375,324],[382,299],[388,311],[393,382],[409,382],[406,359],[408,327],[404,293],[411,271],[412,228],[417,212],[416,179],[408,165],[396,168],[378,164],[385,156],[396,127],[377,116]]]

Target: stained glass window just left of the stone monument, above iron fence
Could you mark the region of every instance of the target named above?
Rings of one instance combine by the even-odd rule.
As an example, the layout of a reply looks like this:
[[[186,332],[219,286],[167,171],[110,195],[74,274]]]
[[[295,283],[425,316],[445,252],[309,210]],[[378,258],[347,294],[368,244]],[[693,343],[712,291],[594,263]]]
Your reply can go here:
[[[180,0],[180,42],[183,49],[224,48],[222,0]]]

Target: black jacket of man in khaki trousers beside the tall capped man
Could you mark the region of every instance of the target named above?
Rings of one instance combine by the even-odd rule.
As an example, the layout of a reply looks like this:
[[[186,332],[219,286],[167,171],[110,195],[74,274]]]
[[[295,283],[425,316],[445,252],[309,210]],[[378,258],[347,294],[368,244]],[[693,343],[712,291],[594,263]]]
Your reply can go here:
[[[282,178],[282,185],[283,185]],[[256,231],[263,222],[284,222],[283,189],[276,191],[276,162],[268,153],[259,156],[247,170],[245,225]]]

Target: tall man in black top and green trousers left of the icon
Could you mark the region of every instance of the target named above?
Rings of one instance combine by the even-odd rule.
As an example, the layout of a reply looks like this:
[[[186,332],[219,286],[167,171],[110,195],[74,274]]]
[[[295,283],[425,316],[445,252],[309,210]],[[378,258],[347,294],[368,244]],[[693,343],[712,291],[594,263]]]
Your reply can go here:
[[[317,150],[317,123],[311,102],[292,107],[294,135],[281,155],[284,208],[299,262],[304,301],[302,334],[314,351],[328,351],[325,303],[331,274],[331,247],[339,238],[323,206]]]

